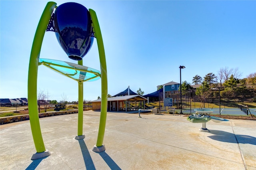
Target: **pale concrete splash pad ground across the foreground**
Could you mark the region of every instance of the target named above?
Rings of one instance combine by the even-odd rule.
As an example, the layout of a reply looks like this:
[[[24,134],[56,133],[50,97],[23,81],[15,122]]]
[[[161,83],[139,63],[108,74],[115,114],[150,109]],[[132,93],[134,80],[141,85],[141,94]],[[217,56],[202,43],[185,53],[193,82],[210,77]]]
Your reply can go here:
[[[108,113],[104,152],[96,144],[100,112],[84,111],[86,138],[75,140],[78,114],[40,119],[46,149],[36,152],[29,121],[0,125],[0,169],[4,170],[256,170],[256,121],[201,123],[180,115]]]

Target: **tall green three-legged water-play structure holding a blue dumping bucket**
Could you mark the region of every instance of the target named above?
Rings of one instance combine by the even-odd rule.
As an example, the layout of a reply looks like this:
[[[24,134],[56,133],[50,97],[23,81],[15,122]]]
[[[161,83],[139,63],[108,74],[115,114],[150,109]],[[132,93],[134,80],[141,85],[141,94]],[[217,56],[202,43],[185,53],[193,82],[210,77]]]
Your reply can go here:
[[[32,160],[43,158],[51,154],[44,146],[37,111],[38,65],[45,65],[78,82],[78,135],[75,136],[77,140],[85,138],[82,132],[83,82],[94,81],[101,78],[102,102],[100,125],[97,142],[92,150],[94,152],[102,152],[105,150],[103,138],[106,127],[108,83],[104,45],[96,13],[94,10],[87,10],[81,4],[74,2],[64,3],[60,6],[56,5],[55,2],[48,2],[46,4],[36,29],[30,53],[28,69],[28,109],[32,136],[36,147],[36,153],[33,154]],[[39,58],[46,31],[56,33],[56,38],[62,49],[69,58],[77,60],[78,64]],[[100,71],[82,65],[82,58],[90,50],[94,38],[97,39]]]

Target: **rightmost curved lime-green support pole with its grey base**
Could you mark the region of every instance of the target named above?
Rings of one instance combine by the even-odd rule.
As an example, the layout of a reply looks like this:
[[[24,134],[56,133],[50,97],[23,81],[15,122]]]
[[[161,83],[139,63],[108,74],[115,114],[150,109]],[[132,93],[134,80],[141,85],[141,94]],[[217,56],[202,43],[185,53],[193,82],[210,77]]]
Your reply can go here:
[[[101,72],[101,108],[100,108],[100,125],[97,143],[92,148],[94,152],[102,152],[105,150],[105,146],[103,145],[105,127],[106,127],[106,118],[107,118],[107,107],[108,107],[108,80],[107,80],[107,66],[106,66],[106,57],[104,44],[102,40],[102,35],[100,31],[100,25],[98,22],[98,18],[96,16],[96,12],[92,9],[89,9],[94,32],[97,39],[98,51],[100,56],[100,72]]]

